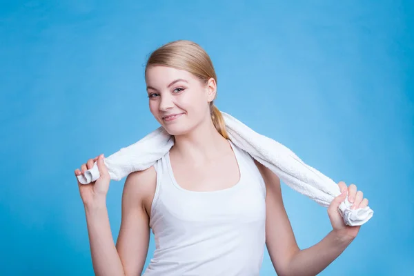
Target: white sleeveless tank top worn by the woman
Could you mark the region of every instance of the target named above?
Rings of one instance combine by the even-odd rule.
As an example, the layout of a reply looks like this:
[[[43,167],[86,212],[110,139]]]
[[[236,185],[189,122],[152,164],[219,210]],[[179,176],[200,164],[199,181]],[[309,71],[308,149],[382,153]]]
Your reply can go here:
[[[266,187],[253,158],[228,141],[240,179],[224,190],[181,188],[169,152],[155,164],[150,227],[156,249],[145,276],[259,275],[266,241]]]

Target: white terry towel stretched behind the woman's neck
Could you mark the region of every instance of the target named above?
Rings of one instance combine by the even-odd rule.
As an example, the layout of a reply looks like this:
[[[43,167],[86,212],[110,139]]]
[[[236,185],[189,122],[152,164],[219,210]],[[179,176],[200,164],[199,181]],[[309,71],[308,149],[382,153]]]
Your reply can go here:
[[[292,150],[279,142],[260,135],[226,112],[221,112],[226,123],[228,136],[233,144],[248,152],[254,159],[272,170],[285,184],[306,195],[324,207],[340,195],[339,186],[321,172],[304,163]],[[110,178],[121,180],[131,172],[145,170],[163,157],[174,144],[172,136],[160,126],[143,139],[105,158]],[[99,178],[97,163],[79,175],[81,184],[88,184]],[[350,226],[364,224],[373,216],[373,210],[366,206],[351,210],[348,197],[339,206],[339,213]]]

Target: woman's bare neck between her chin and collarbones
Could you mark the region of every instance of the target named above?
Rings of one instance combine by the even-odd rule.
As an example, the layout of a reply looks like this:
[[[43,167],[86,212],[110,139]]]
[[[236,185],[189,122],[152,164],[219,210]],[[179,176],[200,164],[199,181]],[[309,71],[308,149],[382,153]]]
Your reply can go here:
[[[192,164],[202,164],[221,157],[229,147],[228,141],[216,130],[213,121],[207,118],[190,132],[175,135],[175,144],[170,153]]]

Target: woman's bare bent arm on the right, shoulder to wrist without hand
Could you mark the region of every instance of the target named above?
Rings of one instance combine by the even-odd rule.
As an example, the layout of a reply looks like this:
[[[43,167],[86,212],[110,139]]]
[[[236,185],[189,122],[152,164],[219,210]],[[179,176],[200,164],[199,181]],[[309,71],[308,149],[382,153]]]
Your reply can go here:
[[[282,200],[280,180],[256,161],[266,182],[266,244],[277,275],[317,275],[351,243],[333,231],[321,242],[300,250]]]

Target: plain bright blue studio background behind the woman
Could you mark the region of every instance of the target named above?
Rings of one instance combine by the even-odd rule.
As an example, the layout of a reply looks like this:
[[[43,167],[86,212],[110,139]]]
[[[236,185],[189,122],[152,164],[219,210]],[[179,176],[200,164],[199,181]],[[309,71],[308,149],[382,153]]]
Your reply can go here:
[[[157,128],[145,61],[190,39],[221,110],[368,197],[374,217],[320,275],[414,275],[413,1],[286,2],[1,1],[0,274],[92,275],[73,171]],[[326,208],[282,190],[299,247],[319,242]]]

